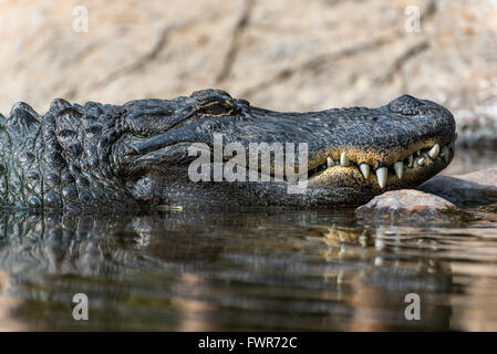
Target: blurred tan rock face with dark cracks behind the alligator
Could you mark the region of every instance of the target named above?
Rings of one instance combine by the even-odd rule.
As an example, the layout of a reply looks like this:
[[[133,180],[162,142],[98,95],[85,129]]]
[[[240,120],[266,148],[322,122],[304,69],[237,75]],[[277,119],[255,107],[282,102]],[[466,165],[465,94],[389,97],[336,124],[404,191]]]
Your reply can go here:
[[[206,87],[280,111],[408,93],[497,147],[495,0],[0,0],[0,72],[4,115]]]

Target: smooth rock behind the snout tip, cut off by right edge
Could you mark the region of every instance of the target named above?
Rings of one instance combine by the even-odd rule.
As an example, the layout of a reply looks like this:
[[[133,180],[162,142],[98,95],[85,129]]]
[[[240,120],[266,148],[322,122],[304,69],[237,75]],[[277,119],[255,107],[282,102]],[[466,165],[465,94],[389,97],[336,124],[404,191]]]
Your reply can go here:
[[[463,206],[497,202],[497,168],[484,169],[459,176],[435,176],[418,190],[436,195]]]

